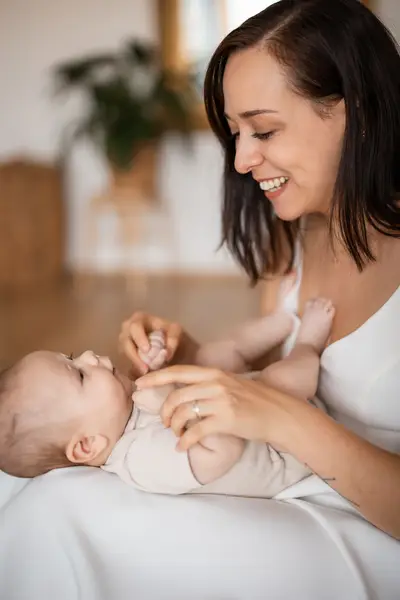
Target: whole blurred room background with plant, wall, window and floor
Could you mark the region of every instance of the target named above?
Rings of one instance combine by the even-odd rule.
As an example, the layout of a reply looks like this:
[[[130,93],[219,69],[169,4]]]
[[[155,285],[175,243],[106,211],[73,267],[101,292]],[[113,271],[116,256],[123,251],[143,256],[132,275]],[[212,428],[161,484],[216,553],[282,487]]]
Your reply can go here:
[[[222,156],[201,82],[268,4],[0,0],[0,368],[35,348],[122,365],[137,309],[199,339],[260,314],[262,289],[217,250]],[[368,4],[398,37],[399,0]]]

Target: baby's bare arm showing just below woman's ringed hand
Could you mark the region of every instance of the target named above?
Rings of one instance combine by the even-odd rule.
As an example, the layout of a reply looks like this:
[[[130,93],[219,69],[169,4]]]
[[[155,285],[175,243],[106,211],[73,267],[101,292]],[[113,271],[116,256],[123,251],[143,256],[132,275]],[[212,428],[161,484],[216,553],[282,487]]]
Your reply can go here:
[[[244,440],[233,435],[208,435],[188,451],[193,475],[203,485],[219,479],[243,454]]]

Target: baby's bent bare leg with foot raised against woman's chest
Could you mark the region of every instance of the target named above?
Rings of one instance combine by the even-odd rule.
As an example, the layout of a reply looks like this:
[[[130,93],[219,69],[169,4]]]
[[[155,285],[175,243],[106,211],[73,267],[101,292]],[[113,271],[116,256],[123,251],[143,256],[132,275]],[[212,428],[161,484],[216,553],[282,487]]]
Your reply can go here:
[[[315,396],[319,359],[328,340],[334,307],[329,300],[316,298],[307,303],[296,343],[284,359],[269,365],[261,378],[279,390],[302,399]]]

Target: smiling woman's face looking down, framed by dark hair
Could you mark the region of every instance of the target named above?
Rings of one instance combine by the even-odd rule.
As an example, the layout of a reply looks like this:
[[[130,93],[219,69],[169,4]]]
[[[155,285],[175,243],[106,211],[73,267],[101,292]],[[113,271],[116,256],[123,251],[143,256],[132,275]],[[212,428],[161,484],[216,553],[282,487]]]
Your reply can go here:
[[[251,173],[285,221],[327,213],[342,150],[344,102],[321,117],[290,89],[275,59],[257,48],[229,58],[223,83],[238,173]]]

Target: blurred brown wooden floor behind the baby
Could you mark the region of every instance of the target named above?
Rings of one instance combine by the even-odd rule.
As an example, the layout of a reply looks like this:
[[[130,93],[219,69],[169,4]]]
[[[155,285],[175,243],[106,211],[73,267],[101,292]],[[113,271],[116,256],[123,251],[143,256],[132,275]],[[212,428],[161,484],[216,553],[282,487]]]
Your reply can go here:
[[[65,353],[92,349],[120,368],[121,322],[143,309],[180,322],[199,341],[212,339],[260,313],[260,292],[241,278],[166,277],[139,281],[98,276],[79,285],[66,280],[52,288],[0,293],[0,368],[42,348]]]

